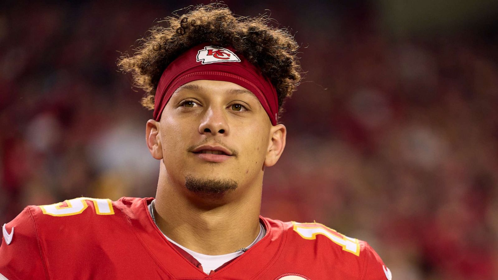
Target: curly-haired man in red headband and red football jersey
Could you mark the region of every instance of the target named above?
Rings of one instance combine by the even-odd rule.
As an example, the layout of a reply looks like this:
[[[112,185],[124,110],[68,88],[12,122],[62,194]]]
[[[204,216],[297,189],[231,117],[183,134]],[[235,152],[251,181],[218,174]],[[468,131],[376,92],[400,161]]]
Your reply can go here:
[[[290,34],[218,5],[168,22],[119,63],[154,110],[155,199],[26,207],[2,228],[0,279],[391,279],[366,242],[259,216],[300,80]]]

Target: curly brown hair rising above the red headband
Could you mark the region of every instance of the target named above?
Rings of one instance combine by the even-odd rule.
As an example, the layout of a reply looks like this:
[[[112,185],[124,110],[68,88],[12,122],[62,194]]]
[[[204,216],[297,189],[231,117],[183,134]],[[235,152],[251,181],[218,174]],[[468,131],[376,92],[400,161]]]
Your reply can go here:
[[[133,56],[124,53],[118,67],[131,72],[133,86],[142,88],[143,107],[154,109],[154,96],[162,72],[184,51],[209,42],[221,47],[232,46],[260,68],[274,85],[278,96],[279,114],[286,97],[290,97],[301,80],[297,60],[299,45],[286,29],[268,26],[270,18],[235,16],[224,4],[198,5],[181,16],[169,16],[155,26]]]

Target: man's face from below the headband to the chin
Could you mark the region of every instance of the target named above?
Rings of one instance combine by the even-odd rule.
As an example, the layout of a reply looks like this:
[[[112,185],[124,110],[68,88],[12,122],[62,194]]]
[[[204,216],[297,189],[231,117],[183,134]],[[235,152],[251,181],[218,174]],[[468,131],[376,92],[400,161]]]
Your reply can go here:
[[[258,99],[244,87],[225,81],[189,82],[171,96],[160,119],[168,176],[205,193],[250,184],[262,176],[271,128]]]

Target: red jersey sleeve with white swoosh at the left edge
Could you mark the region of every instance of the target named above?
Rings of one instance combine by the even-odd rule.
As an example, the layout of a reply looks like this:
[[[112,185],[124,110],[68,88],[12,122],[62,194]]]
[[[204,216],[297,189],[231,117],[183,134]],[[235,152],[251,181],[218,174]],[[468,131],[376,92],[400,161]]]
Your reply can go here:
[[[41,249],[34,216],[27,206],[2,227],[0,280],[49,279]]]

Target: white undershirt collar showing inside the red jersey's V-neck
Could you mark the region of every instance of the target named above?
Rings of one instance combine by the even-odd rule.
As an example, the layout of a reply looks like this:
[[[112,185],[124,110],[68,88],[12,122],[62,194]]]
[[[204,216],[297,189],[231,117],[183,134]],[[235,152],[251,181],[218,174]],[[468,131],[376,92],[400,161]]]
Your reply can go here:
[[[150,209],[150,205],[149,205],[149,209]],[[150,211],[148,211],[148,212],[150,215]],[[157,225],[156,225],[156,227],[157,227]],[[159,229],[159,231],[160,230],[161,229]],[[161,231],[161,233],[162,233],[162,231]],[[215,269],[221,267],[226,262],[233,260],[233,259],[239,257],[240,255],[244,254],[244,251],[239,251],[239,252],[229,253],[229,254],[225,254],[225,255],[204,255],[204,254],[194,252],[188,248],[181,246],[180,244],[174,242],[169,237],[167,237],[164,233],[163,233],[163,235],[164,235],[164,237],[166,237],[166,239],[169,242],[175,244],[176,246],[185,250],[185,252],[189,253],[192,257],[194,257],[201,264],[202,270],[204,271],[205,274],[209,274],[212,270],[215,270]],[[252,243],[248,247],[246,247],[246,249],[251,248],[254,244],[256,244],[262,238],[263,238],[263,231],[262,231],[261,227],[259,227],[259,234],[257,235],[256,239],[254,239],[254,241],[252,241]]]

